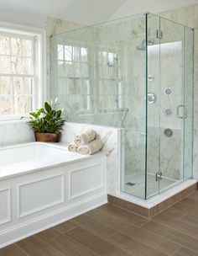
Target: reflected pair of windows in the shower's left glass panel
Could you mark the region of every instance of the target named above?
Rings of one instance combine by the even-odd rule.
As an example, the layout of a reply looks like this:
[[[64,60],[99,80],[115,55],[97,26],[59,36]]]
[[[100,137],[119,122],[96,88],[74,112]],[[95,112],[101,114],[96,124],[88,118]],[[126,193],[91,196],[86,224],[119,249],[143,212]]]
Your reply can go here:
[[[83,44],[82,44],[83,45]],[[122,108],[122,77],[118,51],[78,43],[57,44],[58,81],[55,96],[75,114]],[[58,92],[58,93],[57,93]]]

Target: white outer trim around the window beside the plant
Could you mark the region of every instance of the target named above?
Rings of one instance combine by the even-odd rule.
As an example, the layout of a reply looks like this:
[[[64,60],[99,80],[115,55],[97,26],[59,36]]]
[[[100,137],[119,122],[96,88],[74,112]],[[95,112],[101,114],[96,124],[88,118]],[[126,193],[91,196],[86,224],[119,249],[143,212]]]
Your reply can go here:
[[[34,106],[39,109],[47,98],[46,89],[46,32],[44,29],[0,22],[0,34],[34,37]],[[1,121],[20,120],[22,115],[0,115]],[[27,117],[28,118],[28,117]]]

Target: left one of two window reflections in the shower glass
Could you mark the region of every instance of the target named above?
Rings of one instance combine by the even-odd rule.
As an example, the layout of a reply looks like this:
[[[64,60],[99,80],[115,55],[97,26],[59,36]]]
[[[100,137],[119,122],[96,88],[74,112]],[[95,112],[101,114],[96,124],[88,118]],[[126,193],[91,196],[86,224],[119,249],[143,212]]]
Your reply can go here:
[[[58,45],[59,88],[70,98],[70,104],[78,104],[79,110],[90,109],[90,80],[88,50],[73,45]],[[63,89],[64,88],[64,89]]]

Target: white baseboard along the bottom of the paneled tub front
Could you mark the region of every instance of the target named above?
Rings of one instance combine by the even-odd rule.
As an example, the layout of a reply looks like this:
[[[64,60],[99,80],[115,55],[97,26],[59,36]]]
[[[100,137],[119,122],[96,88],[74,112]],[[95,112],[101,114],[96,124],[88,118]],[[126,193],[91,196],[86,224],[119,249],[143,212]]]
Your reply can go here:
[[[50,211],[48,214],[4,229],[0,232],[0,248],[8,246],[11,243],[16,243],[23,238],[30,237],[50,227],[55,227],[61,222],[68,221],[75,216],[79,216],[86,211],[91,211],[106,203],[107,193],[102,192],[101,194],[86,198],[86,200],[61,207],[56,211]]]

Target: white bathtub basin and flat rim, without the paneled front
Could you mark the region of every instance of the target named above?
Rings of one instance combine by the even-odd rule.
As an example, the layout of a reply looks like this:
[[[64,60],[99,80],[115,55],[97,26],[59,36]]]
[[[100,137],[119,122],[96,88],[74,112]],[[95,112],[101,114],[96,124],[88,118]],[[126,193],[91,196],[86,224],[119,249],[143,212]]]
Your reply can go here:
[[[69,152],[67,147],[44,142],[0,147],[0,180],[40,168],[75,162],[87,157],[90,156]]]

